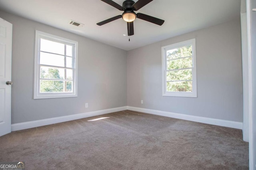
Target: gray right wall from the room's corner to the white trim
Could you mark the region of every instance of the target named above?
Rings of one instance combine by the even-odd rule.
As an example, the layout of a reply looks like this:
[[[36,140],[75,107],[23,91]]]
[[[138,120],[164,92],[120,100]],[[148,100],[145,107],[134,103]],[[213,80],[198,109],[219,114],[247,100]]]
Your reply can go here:
[[[240,36],[237,19],[128,51],[127,105],[242,122]],[[196,38],[198,97],[163,97],[161,47],[192,38]]]

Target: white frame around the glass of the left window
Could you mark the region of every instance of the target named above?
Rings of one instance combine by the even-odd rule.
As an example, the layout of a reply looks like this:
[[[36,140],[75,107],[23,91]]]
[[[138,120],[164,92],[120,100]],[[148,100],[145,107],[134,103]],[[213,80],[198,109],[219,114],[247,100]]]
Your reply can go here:
[[[58,92],[58,93],[40,93],[40,38],[50,40],[53,42],[65,43],[68,45],[74,45],[73,50],[73,90],[72,92]],[[77,97],[77,57],[78,57],[78,42],[68,40],[59,36],[40,32],[36,30],[36,42],[35,42],[35,62],[34,62],[34,99],[50,99],[50,98],[62,98],[62,97]]]

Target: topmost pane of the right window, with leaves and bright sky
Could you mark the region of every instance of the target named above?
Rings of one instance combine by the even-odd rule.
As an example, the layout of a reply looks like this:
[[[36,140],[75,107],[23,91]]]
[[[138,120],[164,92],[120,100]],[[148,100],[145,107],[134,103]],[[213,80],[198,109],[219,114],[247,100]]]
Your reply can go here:
[[[166,54],[167,54],[167,60],[192,56],[192,45],[170,49],[166,51]]]

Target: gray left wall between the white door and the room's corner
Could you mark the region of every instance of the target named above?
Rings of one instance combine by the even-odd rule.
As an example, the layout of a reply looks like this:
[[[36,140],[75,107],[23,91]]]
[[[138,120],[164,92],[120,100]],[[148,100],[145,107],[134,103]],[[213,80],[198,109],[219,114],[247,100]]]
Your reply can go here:
[[[126,106],[126,51],[2,11],[0,17],[13,24],[12,124]],[[78,97],[33,99],[36,30],[78,42]]]

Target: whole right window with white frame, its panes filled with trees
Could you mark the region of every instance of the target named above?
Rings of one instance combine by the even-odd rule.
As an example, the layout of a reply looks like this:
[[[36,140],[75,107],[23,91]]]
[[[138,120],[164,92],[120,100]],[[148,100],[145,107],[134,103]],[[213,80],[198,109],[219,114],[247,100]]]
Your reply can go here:
[[[195,39],[162,47],[162,93],[197,97]]]

